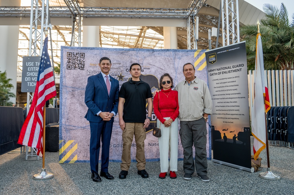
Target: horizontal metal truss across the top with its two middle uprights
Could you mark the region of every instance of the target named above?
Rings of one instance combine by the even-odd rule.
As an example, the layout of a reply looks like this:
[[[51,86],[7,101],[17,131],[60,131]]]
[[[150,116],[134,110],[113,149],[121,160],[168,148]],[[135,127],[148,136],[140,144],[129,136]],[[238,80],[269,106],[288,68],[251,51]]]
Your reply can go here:
[[[206,0],[192,0],[187,9],[80,7],[78,0],[64,0],[67,7],[50,7],[51,17],[72,18],[71,46],[81,46],[82,17],[185,18],[187,19],[187,47],[197,49],[195,16]],[[0,7],[0,16],[26,17],[29,7]]]

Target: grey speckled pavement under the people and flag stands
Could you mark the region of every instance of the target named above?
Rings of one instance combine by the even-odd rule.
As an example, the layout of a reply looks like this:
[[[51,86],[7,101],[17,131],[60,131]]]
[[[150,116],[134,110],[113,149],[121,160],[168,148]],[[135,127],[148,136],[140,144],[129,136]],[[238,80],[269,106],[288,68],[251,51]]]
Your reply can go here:
[[[40,173],[42,160],[26,161],[24,153],[6,153],[0,156],[0,194],[294,194],[294,150],[270,146],[272,172],[280,174],[280,180],[272,181],[258,177],[266,171],[266,151],[262,169],[250,173],[220,165],[208,160],[210,182],[202,182],[196,173],[192,179],[183,179],[183,161],[178,161],[177,179],[159,179],[159,162],[147,162],[149,178],[137,174],[132,162],[126,179],[118,179],[120,163],[110,162],[109,172],[115,177],[96,183],[91,179],[90,164],[59,164],[58,152],[46,152],[45,167],[54,174],[48,180],[33,180]]]

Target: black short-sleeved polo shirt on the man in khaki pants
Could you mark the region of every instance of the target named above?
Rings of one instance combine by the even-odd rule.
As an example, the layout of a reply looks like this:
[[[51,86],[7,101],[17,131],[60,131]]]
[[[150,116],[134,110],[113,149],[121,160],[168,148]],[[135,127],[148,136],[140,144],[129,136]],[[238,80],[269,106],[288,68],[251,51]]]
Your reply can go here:
[[[146,119],[146,99],[152,98],[148,83],[129,80],[121,85],[118,97],[124,98],[123,121],[125,123],[144,123]]]

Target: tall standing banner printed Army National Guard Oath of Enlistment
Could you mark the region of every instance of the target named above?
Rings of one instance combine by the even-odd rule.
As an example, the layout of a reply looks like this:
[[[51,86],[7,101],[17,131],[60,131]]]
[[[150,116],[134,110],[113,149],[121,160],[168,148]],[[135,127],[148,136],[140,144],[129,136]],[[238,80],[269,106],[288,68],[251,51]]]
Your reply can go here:
[[[206,61],[213,162],[252,172],[245,42],[207,51]]]

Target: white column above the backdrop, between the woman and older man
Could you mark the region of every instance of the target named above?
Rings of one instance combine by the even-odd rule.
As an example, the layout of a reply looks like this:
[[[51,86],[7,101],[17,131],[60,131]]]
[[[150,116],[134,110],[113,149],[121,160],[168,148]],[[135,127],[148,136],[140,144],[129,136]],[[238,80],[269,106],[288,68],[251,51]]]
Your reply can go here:
[[[163,27],[164,49],[178,49],[177,27]]]

